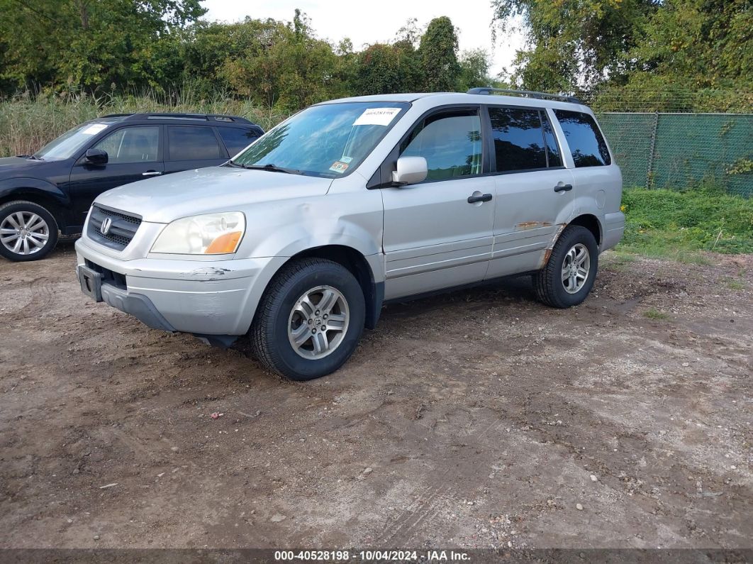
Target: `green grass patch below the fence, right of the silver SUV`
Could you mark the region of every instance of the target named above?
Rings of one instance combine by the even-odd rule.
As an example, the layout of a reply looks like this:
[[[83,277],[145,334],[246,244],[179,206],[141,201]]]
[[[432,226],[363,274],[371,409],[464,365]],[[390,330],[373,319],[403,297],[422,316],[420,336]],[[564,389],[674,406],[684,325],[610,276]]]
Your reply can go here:
[[[623,192],[625,236],[617,252],[709,264],[703,252],[753,253],[753,199],[715,187]]]

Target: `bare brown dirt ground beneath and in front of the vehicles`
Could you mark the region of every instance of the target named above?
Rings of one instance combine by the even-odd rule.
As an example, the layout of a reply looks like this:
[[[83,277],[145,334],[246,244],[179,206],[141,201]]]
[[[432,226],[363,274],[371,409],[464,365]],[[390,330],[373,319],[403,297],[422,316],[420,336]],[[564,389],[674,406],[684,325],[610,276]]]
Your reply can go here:
[[[90,302],[71,242],[0,260],[0,547],[751,547],[753,256],[709,261],[387,306],[289,383]]]

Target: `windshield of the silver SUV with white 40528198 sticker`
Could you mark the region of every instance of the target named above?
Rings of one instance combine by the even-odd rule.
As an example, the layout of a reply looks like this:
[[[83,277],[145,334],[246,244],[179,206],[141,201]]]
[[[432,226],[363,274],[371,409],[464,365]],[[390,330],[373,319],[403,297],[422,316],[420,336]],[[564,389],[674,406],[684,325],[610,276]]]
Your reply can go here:
[[[280,123],[231,162],[337,178],[367,157],[408,106],[405,102],[315,105]]]

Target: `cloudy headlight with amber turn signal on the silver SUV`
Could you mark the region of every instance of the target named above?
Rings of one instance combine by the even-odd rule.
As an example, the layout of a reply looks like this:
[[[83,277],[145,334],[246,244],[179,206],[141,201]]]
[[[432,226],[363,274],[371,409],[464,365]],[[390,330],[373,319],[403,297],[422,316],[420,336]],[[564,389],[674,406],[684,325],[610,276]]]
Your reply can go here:
[[[241,212],[208,213],[176,219],[162,230],[151,252],[175,255],[227,255],[245,232]]]

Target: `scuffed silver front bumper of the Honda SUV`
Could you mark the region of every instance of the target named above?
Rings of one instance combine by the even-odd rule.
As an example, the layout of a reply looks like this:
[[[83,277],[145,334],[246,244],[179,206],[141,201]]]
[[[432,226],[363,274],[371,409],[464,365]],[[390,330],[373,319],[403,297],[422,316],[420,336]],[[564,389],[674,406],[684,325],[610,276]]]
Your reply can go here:
[[[151,328],[202,335],[245,334],[266,286],[266,272],[276,270],[274,263],[280,260],[120,261],[87,245],[86,239],[76,242],[76,255],[79,271],[102,271],[101,297],[108,305]]]

